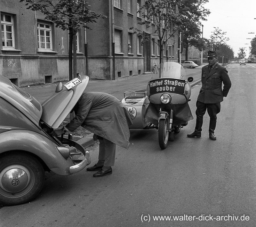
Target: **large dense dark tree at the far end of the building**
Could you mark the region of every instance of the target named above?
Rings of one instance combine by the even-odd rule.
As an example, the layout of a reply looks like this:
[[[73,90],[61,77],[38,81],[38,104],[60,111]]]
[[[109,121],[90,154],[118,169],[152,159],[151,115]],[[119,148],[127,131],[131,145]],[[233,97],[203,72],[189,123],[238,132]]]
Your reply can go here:
[[[183,33],[183,47],[185,48],[185,60],[188,61],[188,47],[195,46],[199,50],[204,49],[201,36],[201,22],[210,14],[204,4],[208,0],[181,0],[179,4],[180,28]]]

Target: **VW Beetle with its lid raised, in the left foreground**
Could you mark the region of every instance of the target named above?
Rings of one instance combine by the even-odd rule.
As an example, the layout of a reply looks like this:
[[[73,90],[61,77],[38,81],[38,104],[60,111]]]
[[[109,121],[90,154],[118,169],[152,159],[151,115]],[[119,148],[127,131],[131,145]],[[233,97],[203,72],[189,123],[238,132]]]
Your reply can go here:
[[[59,83],[41,105],[33,96],[0,76],[0,205],[28,202],[41,191],[45,171],[66,176],[91,163],[90,154],[68,138],[50,135],[70,113],[89,77]],[[74,155],[83,153],[84,160]]]

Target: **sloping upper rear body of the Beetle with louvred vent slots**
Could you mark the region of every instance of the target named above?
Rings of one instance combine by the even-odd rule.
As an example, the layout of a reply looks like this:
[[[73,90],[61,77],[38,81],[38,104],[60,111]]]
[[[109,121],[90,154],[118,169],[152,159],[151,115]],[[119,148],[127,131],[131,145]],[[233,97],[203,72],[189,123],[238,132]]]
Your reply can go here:
[[[41,104],[30,94],[12,84],[12,82],[0,75],[0,97],[15,106],[21,113],[38,125],[42,115]]]

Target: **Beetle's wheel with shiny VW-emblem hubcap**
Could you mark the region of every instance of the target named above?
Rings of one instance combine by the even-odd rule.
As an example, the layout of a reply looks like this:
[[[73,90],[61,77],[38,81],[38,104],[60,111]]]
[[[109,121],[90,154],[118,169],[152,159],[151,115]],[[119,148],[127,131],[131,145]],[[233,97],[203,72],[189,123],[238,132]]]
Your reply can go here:
[[[44,186],[45,172],[38,159],[9,152],[0,157],[0,204],[17,205],[34,199]]]

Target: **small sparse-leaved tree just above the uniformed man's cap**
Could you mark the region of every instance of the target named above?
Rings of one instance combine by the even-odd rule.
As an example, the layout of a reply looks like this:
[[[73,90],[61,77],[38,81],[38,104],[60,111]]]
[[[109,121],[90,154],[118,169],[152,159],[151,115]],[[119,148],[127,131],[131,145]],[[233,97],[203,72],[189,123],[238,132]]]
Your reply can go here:
[[[218,27],[214,28],[215,30],[211,32],[212,35],[210,35],[207,45],[209,49],[217,51],[222,44],[225,44],[229,40],[229,38],[225,37],[227,32],[222,32],[222,30]]]

